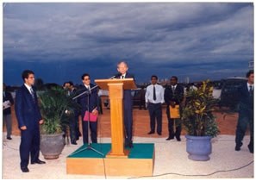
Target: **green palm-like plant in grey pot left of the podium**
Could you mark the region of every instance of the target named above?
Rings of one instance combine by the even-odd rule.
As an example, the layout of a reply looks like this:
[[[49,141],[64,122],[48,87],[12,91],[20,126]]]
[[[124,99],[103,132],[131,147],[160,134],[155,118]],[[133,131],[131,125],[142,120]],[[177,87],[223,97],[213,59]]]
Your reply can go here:
[[[41,153],[45,159],[58,159],[65,147],[63,127],[69,125],[78,104],[66,96],[66,90],[55,86],[39,94],[41,115]]]

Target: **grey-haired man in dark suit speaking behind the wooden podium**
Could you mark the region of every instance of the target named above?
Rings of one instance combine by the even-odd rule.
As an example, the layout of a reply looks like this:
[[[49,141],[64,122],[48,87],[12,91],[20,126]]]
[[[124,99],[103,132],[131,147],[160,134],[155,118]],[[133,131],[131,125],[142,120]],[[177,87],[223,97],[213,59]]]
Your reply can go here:
[[[120,61],[117,64],[119,72],[115,78],[134,78],[134,75],[128,73],[128,64]],[[124,127],[125,127],[125,147],[133,146],[133,97],[131,90],[123,91],[123,109],[124,109]]]

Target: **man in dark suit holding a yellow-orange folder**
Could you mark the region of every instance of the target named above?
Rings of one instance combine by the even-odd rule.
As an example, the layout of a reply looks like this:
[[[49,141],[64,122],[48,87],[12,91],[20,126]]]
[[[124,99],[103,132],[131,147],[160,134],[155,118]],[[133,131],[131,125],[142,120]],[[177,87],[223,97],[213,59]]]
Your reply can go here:
[[[168,130],[169,130],[169,137],[166,140],[174,139],[174,135],[178,141],[180,141],[180,134],[181,134],[181,119],[172,119],[170,114],[170,106],[172,108],[175,105],[179,105],[179,112],[181,112],[181,103],[184,99],[184,88],[178,83],[178,78],[176,76],[172,76],[171,78],[171,86],[165,88],[165,103],[166,107],[166,115],[168,118]],[[181,115],[181,114],[180,114]],[[175,123],[176,131],[173,131],[173,124]]]

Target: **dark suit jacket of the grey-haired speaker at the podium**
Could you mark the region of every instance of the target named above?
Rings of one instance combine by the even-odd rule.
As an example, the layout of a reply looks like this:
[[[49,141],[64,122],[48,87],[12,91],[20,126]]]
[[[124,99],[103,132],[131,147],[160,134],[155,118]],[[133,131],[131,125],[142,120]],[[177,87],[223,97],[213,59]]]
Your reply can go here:
[[[120,78],[121,74],[116,74],[115,78]],[[133,74],[126,73],[125,78],[134,78]],[[134,80],[135,81],[135,80]],[[123,90],[124,109],[133,109],[133,96],[131,90]]]

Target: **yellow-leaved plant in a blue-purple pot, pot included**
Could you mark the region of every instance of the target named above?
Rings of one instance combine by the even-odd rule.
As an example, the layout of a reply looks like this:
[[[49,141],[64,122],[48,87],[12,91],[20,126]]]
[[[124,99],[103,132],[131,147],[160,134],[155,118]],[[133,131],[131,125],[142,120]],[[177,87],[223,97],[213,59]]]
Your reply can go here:
[[[182,120],[187,135],[186,149],[189,159],[206,161],[211,153],[211,139],[219,134],[213,110],[215,99],[209,80],[203,81],[198,89],[186,92],[186,103]]]

